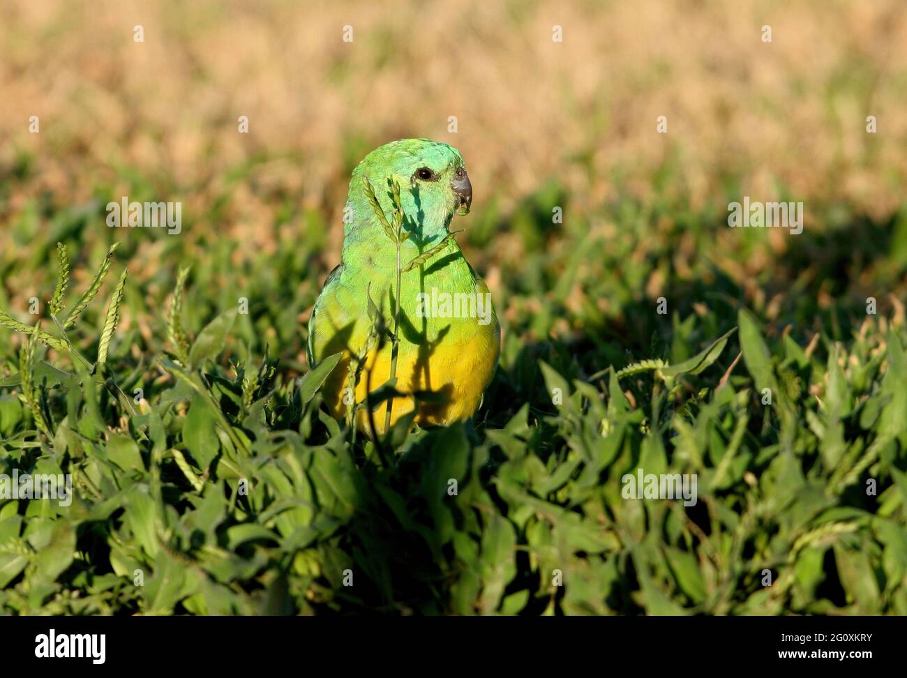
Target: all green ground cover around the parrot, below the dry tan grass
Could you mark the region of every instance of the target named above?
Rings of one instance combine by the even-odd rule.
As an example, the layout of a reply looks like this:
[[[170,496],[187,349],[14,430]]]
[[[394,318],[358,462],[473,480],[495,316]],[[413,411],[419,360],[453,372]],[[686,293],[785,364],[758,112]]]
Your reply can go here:
[[[120,276],[148,266],[130,254],[141,234],[109,259],[80,247],[99,199],[25,210],[4,257],[5,279],[46,271],[35,295],[56,348],[0,330],[0,464],[75,484],[68,507],[0,499],[6,611],[907,613],[907,336],[884,296],[903,218],[786,236],[751,302],[715,263],[709,232],[727,227],[708,214],[604,205],[606,238],[583,214],[552,226],[554,186],[480,214],[464,244],[493,247],[494,229],[526,252],[499,286],[499,371],[475,421],[396,431],[382,461],[319,409],[324,373],[294,358],[315,248],[237,270],[241,245],[211,238],[197,257],[165,248],[133,284]],[[854,246],[855,229],[874,235]],[[766,230],[737,233],[746,257]],[[691,234],[693,265],[672,264]],[[73,245],[62,296],[57,239]],[[854,262],[877,315],[841,275]],[[53,300],[69,325],[99,267],[101,294],[62,334]],[[655,272],[666,314],[641,291]],[[696,474],[697,503],[623,499],[640,468]]]

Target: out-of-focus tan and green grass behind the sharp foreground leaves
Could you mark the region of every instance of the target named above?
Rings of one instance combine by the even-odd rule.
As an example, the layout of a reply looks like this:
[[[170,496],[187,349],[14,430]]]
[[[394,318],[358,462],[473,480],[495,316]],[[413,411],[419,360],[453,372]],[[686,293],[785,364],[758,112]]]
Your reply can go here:
[[[518,344],[597,345],[600,362],[647,356],[654,333],[682,357],[679,321],[651,312],[661,295],[671,315],[746,302],[807,334],[845,334],[867,295],[902,315],[898,0],[2,0],[0,13],[0,306],[16,317],[53,292],[58,240],[85,285],[121,239],[139,350],[160,348],[164,300],[191,264],[189,327],[247,296],[246,339],[303,369],[350,171],[413,136],[462,150],[475,199],[460,240]],[[180,201],[182,232],[106,228],[122,196]],[[804,233],[727,228],[744,196],[804,201]]]

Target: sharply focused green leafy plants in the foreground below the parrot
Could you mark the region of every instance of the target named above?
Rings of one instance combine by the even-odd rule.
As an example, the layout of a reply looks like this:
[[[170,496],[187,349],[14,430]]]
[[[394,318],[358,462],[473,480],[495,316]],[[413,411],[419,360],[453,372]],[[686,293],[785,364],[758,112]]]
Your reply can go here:
[[[556,351],[537,368],[505,352],[502,380],[537,373],[543,388],[500,423],[411,431],[388,464],[319,407],[339,356],[297,379],[267,352],[226,366],[236,312],[190,339],[187,279],[166,322],[179,362],[156,359],[128,421],[91,376],[122,366],[108,363],[124,274],[93,365],[74,350],[61,353],[74,373],[36,360],[44,333],[27,328],[19,373],[0,382],[24,405],[0,400],[0,459],[71,473],[75,496],[0,499],[7,611],[907,611],[902,333],[828,343],[822,361],[741,310],[743,362],[717,387],[734,328],[683,360],[572,378]],[[640,469],[696,476],[696,502],[625,499]]]

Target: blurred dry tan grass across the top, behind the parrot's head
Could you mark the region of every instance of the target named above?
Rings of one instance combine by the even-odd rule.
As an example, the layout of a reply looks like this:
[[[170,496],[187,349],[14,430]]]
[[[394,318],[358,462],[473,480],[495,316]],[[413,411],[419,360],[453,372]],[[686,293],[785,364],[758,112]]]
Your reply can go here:
[[[7,254],[5,226],[35,196],[79,205],[98,186],[126,195],[134,175],[199,216],[180,237],[187,250],[213,229],[244,243],[239,259],[273,253],[305,228],[298,215],[275,226],[282,201],[319,211],[327,266],[349,169],[405,136],[460,148],[477,208],[493,195],[506,211],[556,178],[590,228],[620,192],[645,199],[668,161],[681,171],[666,190],[694,209],[724,209],[733,179],[739,196],[783,189],[883,218],[907,185],[902,0],[3,0],[0,15],[0,168],[22,153],[33,162],[0,212]],[[241,114],[249,134],[237,131]],[[28,133],[30,115],[40,134]],[[205,218],[225,195],[218,223]],[[807,226],[822,228],[814,214]],[[99,220],[98,237],[106,230]],[[735,247],[728,231],[718,237]],[[146,240],[146,258],[165,247]]]

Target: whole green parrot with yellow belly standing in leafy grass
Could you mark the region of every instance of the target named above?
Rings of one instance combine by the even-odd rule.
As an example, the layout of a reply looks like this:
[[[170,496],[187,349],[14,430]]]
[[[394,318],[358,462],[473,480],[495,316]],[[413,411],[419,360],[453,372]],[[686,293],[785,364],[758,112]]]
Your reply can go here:
[[[394,182],[399,186],[406,238],[399,261],[366,179],[388,222],[395,212]],[[352,412],[354,404],[365,402],[366,393],[390,377],[393,344],[376,341],[377,319],[393,330],[398,267],[439,246],[400,274],[395,388],[401,395],[375,406],[372,421],[377,433],[385,432],[388,403],[391,426],[414,410],[420,425],[447,425],[479,408],[497,366],[501,328],[488,287],[448,237],[453,215],[468,214],[472,201],[463,156],[438,141],[392,141],[353,170],[340,265],[327,276],[308,322],[311,366],[341,354],[322,389],[335,417]],[[425,397],[426,392],[432,396]],[[358,408],[356,425],[369,432],[365,407]]]

